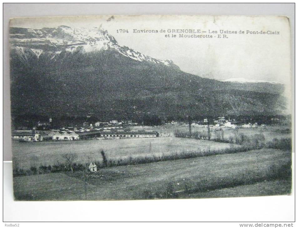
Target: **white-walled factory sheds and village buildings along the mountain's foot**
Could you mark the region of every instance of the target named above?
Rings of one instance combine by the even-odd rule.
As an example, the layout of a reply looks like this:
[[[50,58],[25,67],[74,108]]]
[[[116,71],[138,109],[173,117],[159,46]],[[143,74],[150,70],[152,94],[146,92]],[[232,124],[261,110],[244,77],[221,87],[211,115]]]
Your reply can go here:
[[[52,119],[49,122],[37,123],[39,127],[50,127]],[[157,131],[145,131],[145,130],[130,130],[126,128],[128,126],[137,125],[133,121],[125,121],[125,125],[122,125],[124,122],[111,120],[109,122],[95,122],[89,123],[84,122],[83,127],[63,127],[60,129],[51,129],[51,130],[18,130],[12,132],[12,139],[20,141],[73,141],[79,139],[88,139],[88,138],[155,138],[159,137]],[[169,122],[171,125],[188,125],[184,122]],[[192,127],[206,127],[208,124],[208,119],[204,121],[194,122],[191,124]],[[209,121],[210,126],[213,127],[226,127],[226,128],[250,128],[257,127],[258,124],[254,123],[241,123],[235,119],[230,120],[230,118],[225,119],[224,116],[220,116],[216,119],[213,119],[213,124]],[[47,128],[49,129],[49,128]]]

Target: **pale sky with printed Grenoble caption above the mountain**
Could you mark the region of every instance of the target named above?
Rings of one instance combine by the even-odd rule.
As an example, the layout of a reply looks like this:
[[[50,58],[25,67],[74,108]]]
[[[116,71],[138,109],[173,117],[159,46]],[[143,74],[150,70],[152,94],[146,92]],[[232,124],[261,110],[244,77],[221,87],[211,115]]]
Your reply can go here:
[[[252,16],[109,16],[20,18],[12,27],[99,27],[115,37],[119,45],[154,58],[170,59],[181,70],[202,77],[225,80],[233,77],[277,81],[290,85],[290,28],[286,17]],[[127,29],[129,33],[117,33]],[[158,33],[133,33],[133,30]],[[160,30],[166,30],[160,33]],[[165,37],[168,29],[230,30],[228,38]],[[246,34],[246,31],[278,31],[279,34]],[[180,33],[181,34],[181,33]],[[187,33],[184,33],[187,34]]]

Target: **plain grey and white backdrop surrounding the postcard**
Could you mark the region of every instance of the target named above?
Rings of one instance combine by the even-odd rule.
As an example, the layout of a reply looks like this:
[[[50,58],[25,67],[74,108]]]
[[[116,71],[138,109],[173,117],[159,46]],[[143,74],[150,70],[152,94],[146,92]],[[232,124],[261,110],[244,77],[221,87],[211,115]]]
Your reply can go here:
[[[282,15],[290,18],[294,41],[294,4],[83,4],[4,3],[3,5],[3,160],[11,160],[8,22],[11,17],[75,15]],[[294,50],[294,42],[292,42]],[[294,80],[294,51],[292,52]],[[294,83],[293,83],[294,88]],[[294,90],[293,90],[294,91]],[[293,116],[294,118],[294,116]],[[293,158],[294,162],[294,158]],[[3,221],[294,221],[291,196],[147,201],[13,201],[11,163],[3,163]],[[89,208],[94,210],[90,211]],[[70,224],[62,224],[68,226]],[[91,225],[91,224],[90,224]],[[239,227],[239,223],[218,224]],[[21,223],[20,227],[38,224]],[[42,225],[44,226],[44,225]],[[79,224],[74,226],[80,226]],[[143,225],[142,225],[143,226]],[[189,226],[191,226],[189,224]],[[197,225],[195,225],[197,226]],[[204,227],[214,225],[205,224]],[[215,224],[216,226],[216,224]]]

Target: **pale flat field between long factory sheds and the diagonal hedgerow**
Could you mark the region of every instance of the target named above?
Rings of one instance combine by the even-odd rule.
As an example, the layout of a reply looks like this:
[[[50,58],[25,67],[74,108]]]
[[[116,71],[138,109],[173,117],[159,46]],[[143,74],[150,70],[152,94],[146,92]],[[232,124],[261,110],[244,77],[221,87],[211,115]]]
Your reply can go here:
[[[229,146],[227,143],[174,137],[28,143],[13,141],[13,162],[19,168],[29,169],[32,165],[39,167],[53,165],[57,161],[64,162],[61,155],[67,152],[78,154],[75,162],[86,163],[101,161],[100,150],[104,150],[107,159],[123,159],[129,156],[225,149]]]

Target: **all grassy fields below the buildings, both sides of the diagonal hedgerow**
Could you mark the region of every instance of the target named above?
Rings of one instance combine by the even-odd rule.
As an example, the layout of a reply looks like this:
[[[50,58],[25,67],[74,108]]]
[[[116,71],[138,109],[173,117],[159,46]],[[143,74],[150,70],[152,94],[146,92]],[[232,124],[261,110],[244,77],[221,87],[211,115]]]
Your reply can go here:
[[[101,150],[108,160],[133,160],[124,162],[126,165],[122,166],[100,166],[95,173],[83,170],[72,173],[65,169],[14,176],[14,195],[17,200],[123,200],[290,193],[291,151],[289,146],[284,147],[290,141],[273,140],[290,138],[287,126],[223,129],[225,138],[235,135],[235,132],[246,136],[263,134],[267,146],[241,150],[243,146],[238,144],[173,136],[175,130],[187,131],[186,126],[136,127],[136,130],[156,130],[160,133],[158,138],[13,141],[14,168],[29,171],[32,166],[38,168],[63,163],[62,156],[68,152],[76,154],[73,162],[81,164],[103,163]],[[194,127],[192,131],[207,129]],[[215,129],[210,131],[211,139],[214,139]],[[279,143],[279,146],[274,146],[274,143]],[[232,152],[235,150],[237,152]],[[201,155],[184,156],[194,151]],[[174,159],[170,158],[171,155]],[[155,156],[166,159],[134,163],[134,159],[150,160]]]

